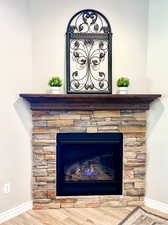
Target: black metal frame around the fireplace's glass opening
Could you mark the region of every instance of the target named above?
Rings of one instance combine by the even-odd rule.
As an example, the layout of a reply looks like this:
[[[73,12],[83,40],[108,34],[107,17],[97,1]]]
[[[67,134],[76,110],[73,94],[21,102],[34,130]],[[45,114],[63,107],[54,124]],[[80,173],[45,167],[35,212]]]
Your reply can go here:
[[[75,192],[69,192],[64,190],[64,166],[63,166],[63,151],[61,144],[67,143],[118,143],[119,156],[121,157],[118,176],[119,181],[85,181],[85,182],[68,182],[69,188],[72,189],[75,185]],[[122,181],[123,181],[123,134],[122,133],[59,133],[57,134],[57,147],[56,147],[56,195],[57,196],[80,196],[80,195],[122,195]],[[92,184],[91,184],[92,183]],[[105,192],[101,192],[97,187],[101,189],[101,186],[108,183],[110,189]],[[87,190],[87,185],[90,185],[90,190]],[[80,190],[80,191],[78,191]],[[83,193],[81,194],[81,190]]]

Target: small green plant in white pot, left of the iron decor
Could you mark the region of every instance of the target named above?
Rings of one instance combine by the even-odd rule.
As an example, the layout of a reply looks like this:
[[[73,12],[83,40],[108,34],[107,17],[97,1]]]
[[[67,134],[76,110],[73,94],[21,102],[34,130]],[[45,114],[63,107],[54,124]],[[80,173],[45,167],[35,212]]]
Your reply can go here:
[[[63,82],[60,77],[52,77],[48,85],[50,86],[49,92],[52,94],[61,94]]]

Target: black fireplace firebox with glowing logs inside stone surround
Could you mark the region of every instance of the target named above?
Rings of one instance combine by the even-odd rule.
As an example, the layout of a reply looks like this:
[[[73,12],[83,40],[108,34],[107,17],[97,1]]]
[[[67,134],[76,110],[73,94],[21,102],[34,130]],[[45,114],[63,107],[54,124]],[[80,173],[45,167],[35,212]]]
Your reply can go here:
[[[57,134],[57,196],[121,195],[122,133]]]

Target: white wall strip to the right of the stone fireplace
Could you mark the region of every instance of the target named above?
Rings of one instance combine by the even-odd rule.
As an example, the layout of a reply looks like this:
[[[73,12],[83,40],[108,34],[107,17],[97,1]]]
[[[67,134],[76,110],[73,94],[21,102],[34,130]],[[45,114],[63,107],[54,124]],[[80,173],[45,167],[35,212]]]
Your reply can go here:
[[[168,204],[168,1],[149,1],[147,76],[163,97],[149,113],[147,197]]]

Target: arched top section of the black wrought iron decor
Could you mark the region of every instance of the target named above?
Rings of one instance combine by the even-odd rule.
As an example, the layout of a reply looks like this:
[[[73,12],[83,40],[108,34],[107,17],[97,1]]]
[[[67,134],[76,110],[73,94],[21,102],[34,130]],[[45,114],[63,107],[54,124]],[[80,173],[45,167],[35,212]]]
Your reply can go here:
[[[97,10],[84,9],[77,12],[69,21],[67,33],[111,34],[107,18]]]

